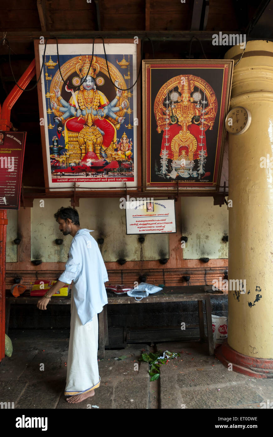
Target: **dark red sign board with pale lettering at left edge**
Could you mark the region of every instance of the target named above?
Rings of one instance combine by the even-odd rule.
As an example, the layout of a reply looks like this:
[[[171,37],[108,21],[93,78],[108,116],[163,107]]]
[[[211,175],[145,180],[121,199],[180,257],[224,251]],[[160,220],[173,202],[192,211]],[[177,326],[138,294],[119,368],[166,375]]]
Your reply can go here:
[[[26,132],[0,132],[0,209],[19,209]]]

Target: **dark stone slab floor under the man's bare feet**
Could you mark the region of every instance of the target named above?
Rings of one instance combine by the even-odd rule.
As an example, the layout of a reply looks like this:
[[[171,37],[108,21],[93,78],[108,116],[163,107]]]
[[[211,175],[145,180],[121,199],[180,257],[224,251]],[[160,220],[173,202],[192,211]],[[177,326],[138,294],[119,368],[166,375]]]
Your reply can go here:
[[[273,402],[273,379],[228,371],[208,356],[205,344],[167,342],[106,350],[99,361],[101,384],[95,396],[68,404],[63,395],[67,335],[53,330],[10,331],[13,354],[0,364],[0,402],[14,402],[15,409],[260,409],[261,402]],[[162,365],[159,380],[150,382],[148,364],[138,361],[144,350],[170,350],[181,357]],[[115,360],[123,355],[125,359]]]

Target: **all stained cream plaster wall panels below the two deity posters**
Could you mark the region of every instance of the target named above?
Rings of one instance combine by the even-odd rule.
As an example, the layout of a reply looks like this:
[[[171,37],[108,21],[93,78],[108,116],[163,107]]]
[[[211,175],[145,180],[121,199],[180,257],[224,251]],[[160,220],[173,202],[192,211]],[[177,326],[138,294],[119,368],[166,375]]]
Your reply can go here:
[[[44,262],[66,261],[71,236],[63,236],[58,230],[53,214],[60,206],[68,206],[68,199],[46,199],[40,208],[39,199],[35,199],[31,208],[31,258]],[[222,236],[228,234],[228,211],[226,205],[213,205],[212,197],[182,198],[182,233],[188,236],[183,249],[184,259],[228,258],[228,243]],[[80,199],[77,208],[82,227],[94,229],[92,236],[104,238],[101,246],[103,259],[116,261],[158,260],[169,257],[168,235],[147,235],[145,242],[138,242],[138,235],[126,235],[125,210],[119,208],[119,199]],[[13,240],[17,237],[17,211],[8,211],[7,225],[7,262],[17,261],[17,246]],[[61,246],[55,239],[64,240]]]

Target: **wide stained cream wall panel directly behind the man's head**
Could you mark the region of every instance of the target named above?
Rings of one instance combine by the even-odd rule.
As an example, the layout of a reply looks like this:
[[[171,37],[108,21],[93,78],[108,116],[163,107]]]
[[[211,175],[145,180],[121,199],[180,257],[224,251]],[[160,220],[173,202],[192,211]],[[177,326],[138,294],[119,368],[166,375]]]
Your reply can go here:
[[[31,209],[31,257],[44,262],[66,261],[71,236],[63,236],[58,230],[53,214],[61,206],[68,206],[68,199],[46,199],[44,207],[40,201],[34,200]],[[120,209],[119,199],[80,199],[76,208],[82,228],[94,229],[95,239],[104,238],[101,252],[104,261],[126,260],[158,260],[169,257],[168,235],[147,235],[145,242],[138,242],[139,235],[126,235],[125,209]],[[55,239],[64,240],[61,246]]]

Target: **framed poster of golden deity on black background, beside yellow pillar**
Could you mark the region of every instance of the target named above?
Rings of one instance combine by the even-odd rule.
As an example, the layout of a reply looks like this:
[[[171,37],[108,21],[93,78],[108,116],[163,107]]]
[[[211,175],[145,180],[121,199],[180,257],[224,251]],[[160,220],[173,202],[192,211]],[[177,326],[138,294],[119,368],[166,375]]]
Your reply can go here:
[[[217,190],[233,60],[143,61],[146,191]]]

